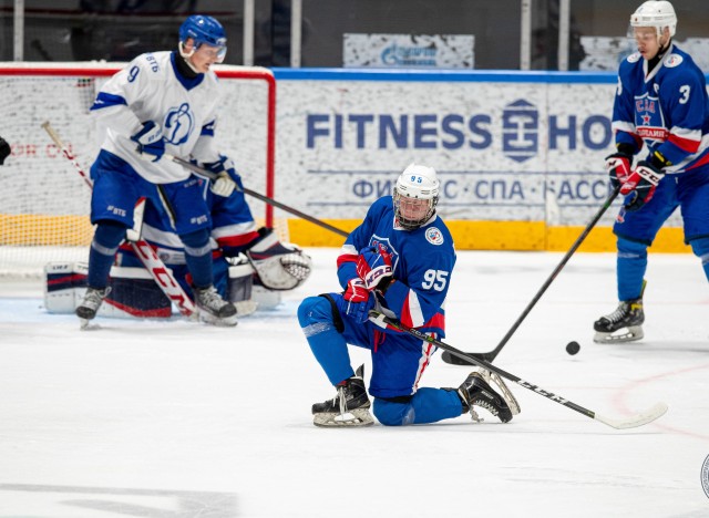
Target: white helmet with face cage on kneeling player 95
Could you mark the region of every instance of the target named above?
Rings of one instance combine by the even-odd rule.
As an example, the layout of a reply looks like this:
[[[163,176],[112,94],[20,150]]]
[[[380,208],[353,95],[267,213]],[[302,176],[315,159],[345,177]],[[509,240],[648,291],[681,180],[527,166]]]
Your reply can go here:
[[[399,178],[394,187],[394,215],[399,225],[407,230],[415,230],[425,224],[435,213],[439,203],[441,183],[433,167],[410,164]],[[428,209],[418,218],[405,217],[401,210],[401,199],[428,200]]]

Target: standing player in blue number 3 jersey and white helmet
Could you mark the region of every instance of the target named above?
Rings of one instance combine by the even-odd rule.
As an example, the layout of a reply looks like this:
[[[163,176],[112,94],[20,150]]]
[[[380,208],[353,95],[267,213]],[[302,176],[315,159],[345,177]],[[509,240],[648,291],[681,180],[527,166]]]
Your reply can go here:
[[[606,159],[626,195],[616,219],[618,308],[595,322],[596,342],[644,335],[647,247],[677,207],[685,241],[709,278],[709,100],[705,75],[672,42],[670,2],[648,1],[630,17],[637,52],[618,73],[613,107],[617,153]],[[633,167],[634,156],[639,162]]]

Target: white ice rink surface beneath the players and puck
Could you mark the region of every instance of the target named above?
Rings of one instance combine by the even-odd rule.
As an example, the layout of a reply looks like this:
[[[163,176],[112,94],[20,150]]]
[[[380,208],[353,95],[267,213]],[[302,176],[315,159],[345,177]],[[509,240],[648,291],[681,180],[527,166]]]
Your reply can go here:
[[[646,339],[598,345],[615,256],[574,256],[495,361],[610,417],[665,401],[656,423],[615,431],[514,385],[522,413],[506,425],[321,429],[310,405],[333,391],[295,314],[337,289],[337,250],[308,252],[306,286],[235,329],[96,319],[82,332],[44,312],[41,284],[1,279],[0,517],[709,516],[698,259],[651,255]],[[561,258],[459,252],[445,342],[493,349]],[[436,356],[422,385],[458,386],[469,370]]]

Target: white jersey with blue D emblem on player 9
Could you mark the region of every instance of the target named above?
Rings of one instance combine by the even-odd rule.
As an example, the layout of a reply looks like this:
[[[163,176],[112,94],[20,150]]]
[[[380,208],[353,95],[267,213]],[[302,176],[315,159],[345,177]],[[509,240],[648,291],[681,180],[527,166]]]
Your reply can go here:
[[[176,70],[175,52],[138,55],[101,89],[91,107],[106,127],[102,148],[127,162],[154,184],[184,180],[189,170],[168,158],[151,162],[136,152],[131,135],[148,121],[165,137],[165,152],[202,163],[219,159],[213,147],[219,89],[214,72],[183,77]]]

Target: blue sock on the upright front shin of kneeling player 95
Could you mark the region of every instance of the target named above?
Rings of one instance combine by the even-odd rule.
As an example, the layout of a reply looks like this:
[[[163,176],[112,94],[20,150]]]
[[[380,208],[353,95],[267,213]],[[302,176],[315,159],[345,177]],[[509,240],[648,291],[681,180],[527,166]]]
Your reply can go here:
[[[298,307],[298,321],[310,350],[332,385],[354,375],[347,342],[335,328],[332,307],[323,297],[308,297]]]

